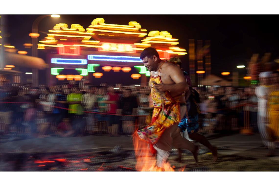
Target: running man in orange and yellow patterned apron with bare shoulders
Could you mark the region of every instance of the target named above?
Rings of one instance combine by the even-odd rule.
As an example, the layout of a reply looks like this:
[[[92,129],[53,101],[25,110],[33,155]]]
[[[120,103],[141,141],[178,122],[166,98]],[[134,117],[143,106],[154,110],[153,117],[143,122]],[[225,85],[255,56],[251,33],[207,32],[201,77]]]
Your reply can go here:
[[[184,115],[180,115],[180,103],[185,102],[182,92],[189,89],[181,69],[162,61],[156,49],[151,47],[144,49],[140,58],[151,72],[149,86],[154,110],[150,126],[137,131],[138,137],[156,149],[158,167],[163,168],[172,146],[188,149],[197,162],[198,146],[183,138],[177,130],[181,116]]]

